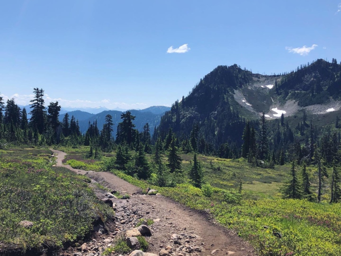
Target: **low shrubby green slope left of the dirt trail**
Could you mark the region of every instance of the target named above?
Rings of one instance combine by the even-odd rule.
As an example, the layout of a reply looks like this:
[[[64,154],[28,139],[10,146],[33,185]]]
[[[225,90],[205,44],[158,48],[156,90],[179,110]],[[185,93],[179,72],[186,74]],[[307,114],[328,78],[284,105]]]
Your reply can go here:
[[[51,151],[12,149],[0,151],[0,243],[21,250],[60,247],[92,230],[100,214],[114,214],[97,200],[87,177],[51,167]],[[32,221],[32,228],[18,224]]]

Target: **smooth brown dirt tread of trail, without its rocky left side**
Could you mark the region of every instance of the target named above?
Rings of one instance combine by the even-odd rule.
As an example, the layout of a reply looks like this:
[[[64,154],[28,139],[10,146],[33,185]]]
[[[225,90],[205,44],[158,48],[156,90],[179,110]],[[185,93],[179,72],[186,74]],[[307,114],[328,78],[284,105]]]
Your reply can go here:
[[[120,194],[133,195],[141,192],[139,188],[116,177],[114,174],[89,172],[63,165],[62,160],[66,153],[58,150],[52,151],[55,155],[57,154],[57,166],[68,168],[78,174],[87,175],[98,182],[102,182],[108,188],[118,191]],[[163,196],[133,196],[127,200],[125,207],[140,211],[145,219],[159,219],[154,224],[155,230],[149,241],[151,245],[149,251],[152,253],[158,254],[159,250],[167,245],[174,246],[173,240],[170,239],[172,234],[190,233],[199,236],[195,241],[195,245],[205,249],[203,252],[198,253],[199,255],[209,256],[215,249],[219,250],[214,253],[214,256],[254,255],[253,248],[246,241],[227,229],[214,224],[207,214],[185,207],[170,198]],[[117,214],[119,214],[118,212],[119,210],[117,210]]]

